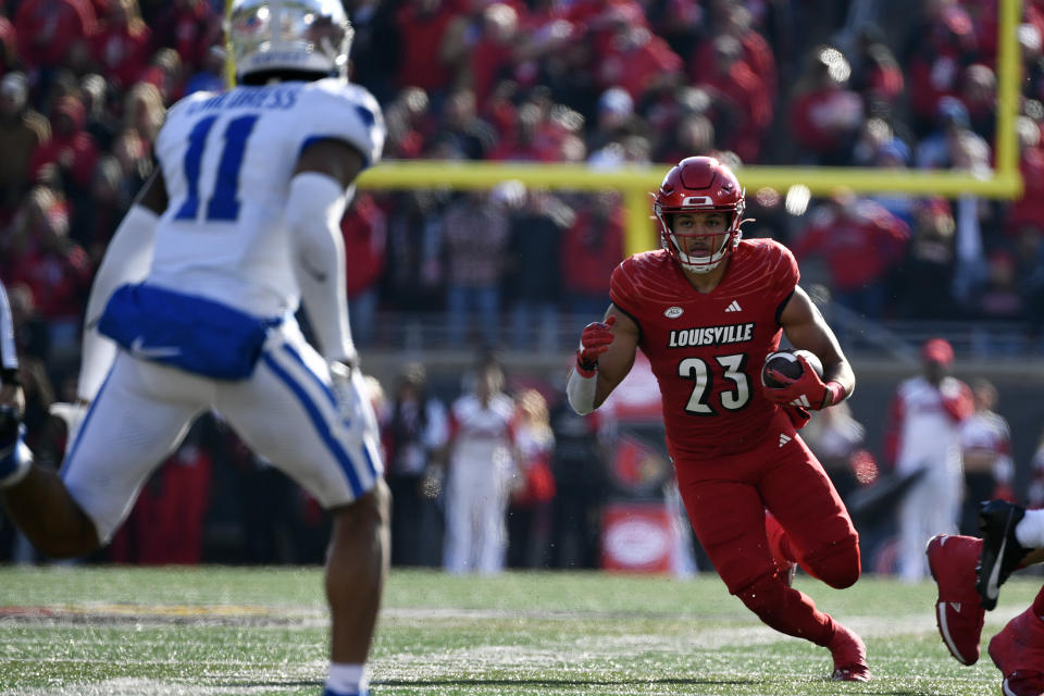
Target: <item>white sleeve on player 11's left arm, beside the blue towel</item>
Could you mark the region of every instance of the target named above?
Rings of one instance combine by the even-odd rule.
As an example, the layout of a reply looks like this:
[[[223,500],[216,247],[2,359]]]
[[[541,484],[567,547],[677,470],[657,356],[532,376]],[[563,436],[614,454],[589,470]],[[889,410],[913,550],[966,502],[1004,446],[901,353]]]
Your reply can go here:
[[[95,274],[84,318],[83,359],[76,385],[76,396],[84,401],[94,400],[116,357],[116,345],[98,333],[98,320],[113,290],[127,283],[140,283],[148,275],[159,220],[145,206],[132,206]]]

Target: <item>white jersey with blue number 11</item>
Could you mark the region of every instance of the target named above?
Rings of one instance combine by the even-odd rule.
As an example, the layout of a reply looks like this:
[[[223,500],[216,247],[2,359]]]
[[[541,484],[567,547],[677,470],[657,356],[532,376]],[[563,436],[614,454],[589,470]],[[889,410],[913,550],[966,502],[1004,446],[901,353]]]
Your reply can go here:
[[[156,142],[170,203],[147,282],[259,316],[296,311],[284,211],[301,151],[343,140],[369,166],[384,137],[373,96],[335,78],[186,97]]]

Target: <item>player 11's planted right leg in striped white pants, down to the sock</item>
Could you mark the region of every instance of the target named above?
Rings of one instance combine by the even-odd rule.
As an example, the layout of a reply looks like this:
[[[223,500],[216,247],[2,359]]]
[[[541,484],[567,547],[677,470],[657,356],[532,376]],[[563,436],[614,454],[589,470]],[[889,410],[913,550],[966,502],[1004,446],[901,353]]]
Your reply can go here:
[[[390,496],[382,478],[376,422],[352,380],[346,413],[322,358],[294,326],[272,339],[250,380],[219,390],[215,406],[244,442],[294,477],[327,510],[331,605],[330,694],[365,694],[364,663],[388,571]]]

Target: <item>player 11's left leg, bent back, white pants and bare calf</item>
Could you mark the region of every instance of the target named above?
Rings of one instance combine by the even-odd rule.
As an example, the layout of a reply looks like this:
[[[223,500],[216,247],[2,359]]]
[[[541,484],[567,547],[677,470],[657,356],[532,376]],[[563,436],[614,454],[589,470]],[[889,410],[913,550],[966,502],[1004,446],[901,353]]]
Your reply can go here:
[[[34,465],[0,492],[12,521],[37,550],[52,558],[85,556],[112,537],[149,472],[198,412],[186,393],[195,383],[169,368],[117,356],[61,474]]]

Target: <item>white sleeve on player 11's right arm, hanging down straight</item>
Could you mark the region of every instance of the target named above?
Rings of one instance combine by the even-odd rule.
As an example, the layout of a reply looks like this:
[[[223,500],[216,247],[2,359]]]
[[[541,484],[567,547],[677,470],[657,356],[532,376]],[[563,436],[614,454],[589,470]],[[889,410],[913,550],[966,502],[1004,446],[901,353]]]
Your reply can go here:
[[[303,172],[290,182],[286,221],[294,231],[294,272],[301,302],[319,350],[327,360],[352,363],[356,347],[348,324],[340,235],[346,203],[345,190],[332,177]]]

